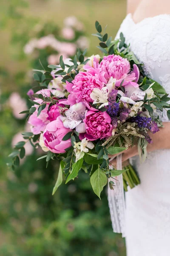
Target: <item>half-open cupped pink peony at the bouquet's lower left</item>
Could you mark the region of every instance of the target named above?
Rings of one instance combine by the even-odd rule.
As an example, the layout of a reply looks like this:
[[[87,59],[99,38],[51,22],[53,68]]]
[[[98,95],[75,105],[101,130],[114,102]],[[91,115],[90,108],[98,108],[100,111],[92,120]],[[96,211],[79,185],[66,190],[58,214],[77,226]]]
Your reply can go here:
[[[60,116],[58,116],[56,120],[50,122],[45,128],[43,133],[45,146],[53,153],[64,153],[65,148],[71,146],[71,139],[62,140],[69,131],[72,130],[65,128]]]

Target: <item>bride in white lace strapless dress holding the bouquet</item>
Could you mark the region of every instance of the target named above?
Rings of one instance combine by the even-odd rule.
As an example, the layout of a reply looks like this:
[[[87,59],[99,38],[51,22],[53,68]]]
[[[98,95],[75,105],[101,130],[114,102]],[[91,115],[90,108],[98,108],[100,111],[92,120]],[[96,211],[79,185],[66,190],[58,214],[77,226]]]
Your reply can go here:
[[[126,43],[144,64],[145,75],[170,93],[170,1],[128,0],[122,32]],[[166,14],[165,14],[166,13]],[[126,193],[127,256],[169,256],[170,244],[170,122],[150,134],[147,160],[140,163],[137,147],[122,154],[130,158],[141,184]],[[112,161],[115,165],[115,160]]]

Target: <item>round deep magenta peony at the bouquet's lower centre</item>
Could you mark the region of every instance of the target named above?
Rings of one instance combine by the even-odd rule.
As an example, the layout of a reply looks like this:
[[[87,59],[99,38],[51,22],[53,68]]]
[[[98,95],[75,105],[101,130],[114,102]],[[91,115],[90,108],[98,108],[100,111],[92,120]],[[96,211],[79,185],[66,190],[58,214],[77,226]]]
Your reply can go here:
[[[88,111],[83,122],[85,122],[86,129],[85,137],[88,140],[102,140],[111,136],[111,117],[108,113],[102,111],[97,113],[94,111]]]

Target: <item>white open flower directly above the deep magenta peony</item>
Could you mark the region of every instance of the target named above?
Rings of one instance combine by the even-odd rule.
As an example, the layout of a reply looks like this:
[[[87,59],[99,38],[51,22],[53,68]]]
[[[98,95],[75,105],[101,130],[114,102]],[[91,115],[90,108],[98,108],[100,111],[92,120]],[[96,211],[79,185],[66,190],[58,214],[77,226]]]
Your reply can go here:
[[[96,103],[103,103],[99,106],[99,108],[102,108],[104,106],[108,105],[108,89],[107,87],[103,87],[102,90],[99,88],[94,88],[94,90],[90,94],[91,99],[93,99],[93,104]]]

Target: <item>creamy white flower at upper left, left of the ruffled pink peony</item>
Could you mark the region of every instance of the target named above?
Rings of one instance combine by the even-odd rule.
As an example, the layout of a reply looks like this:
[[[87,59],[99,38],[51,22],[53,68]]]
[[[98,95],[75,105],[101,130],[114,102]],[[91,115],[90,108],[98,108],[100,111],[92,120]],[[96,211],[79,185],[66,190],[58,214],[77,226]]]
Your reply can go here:
[[[62,98],[65,95],[65,86],[66,84],[62,82],[62,77],[56,77],[52,80],[51,83],[48,84],[48,89],[55,89],[53,90],[53,94],[56,97]]]

